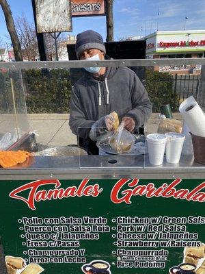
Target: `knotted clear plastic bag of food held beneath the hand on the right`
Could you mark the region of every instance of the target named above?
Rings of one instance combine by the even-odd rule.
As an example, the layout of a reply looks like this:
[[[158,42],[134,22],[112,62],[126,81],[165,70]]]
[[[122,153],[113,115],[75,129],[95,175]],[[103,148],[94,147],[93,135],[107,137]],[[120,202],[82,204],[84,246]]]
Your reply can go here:
[[[109,138],[109,145],[117,153],[128,153],[135,145],[135,137],[124,128],[124,122],[118,130]]]

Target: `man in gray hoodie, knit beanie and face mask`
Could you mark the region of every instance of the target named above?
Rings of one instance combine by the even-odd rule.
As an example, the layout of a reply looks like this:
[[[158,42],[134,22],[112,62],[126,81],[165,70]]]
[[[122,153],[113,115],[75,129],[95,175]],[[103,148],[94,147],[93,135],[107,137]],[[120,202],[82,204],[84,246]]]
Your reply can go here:
[[[75,46],[79,60],[105,60],[102,36],[88,30],[77,35]],[[80,145],[97,154],[90,139],[90,128],[102,116],[115,111],[124,127],[133,132],[152,113],[148,93],[137,75],[126,67],[89,67],[74,84],[70,101],[70,129],[79,136]]]

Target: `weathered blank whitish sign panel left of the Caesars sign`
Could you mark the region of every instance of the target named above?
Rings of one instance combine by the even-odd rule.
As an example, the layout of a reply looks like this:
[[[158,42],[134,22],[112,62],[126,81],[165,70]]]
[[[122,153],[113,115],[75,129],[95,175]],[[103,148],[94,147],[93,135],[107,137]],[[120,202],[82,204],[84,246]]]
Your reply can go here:
[[[70,0],[36,0],[37,32],[72,31]]]

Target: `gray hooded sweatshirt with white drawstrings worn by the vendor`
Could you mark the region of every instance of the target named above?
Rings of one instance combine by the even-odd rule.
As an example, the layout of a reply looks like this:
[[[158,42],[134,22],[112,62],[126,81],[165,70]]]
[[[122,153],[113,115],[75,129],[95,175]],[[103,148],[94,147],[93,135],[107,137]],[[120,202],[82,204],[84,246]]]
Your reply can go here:
[[[74,134],[89,139],[94,122],[113,111],[120,120],[124,116],[132,117],[135,127],[143,125],[152,113],[148,93],[134,71],[111,67],[102,81],[86,73],[74,84],[69,121]]]

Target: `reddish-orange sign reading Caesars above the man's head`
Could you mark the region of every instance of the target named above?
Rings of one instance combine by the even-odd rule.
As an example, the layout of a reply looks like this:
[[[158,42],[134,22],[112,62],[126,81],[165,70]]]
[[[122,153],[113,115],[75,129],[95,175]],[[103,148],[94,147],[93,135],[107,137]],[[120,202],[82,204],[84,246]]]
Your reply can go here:
[[[104,0],[71,0],[72,16],[105,15]]]

